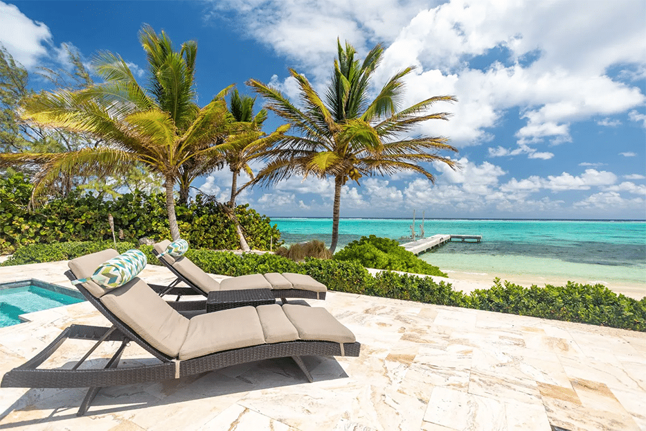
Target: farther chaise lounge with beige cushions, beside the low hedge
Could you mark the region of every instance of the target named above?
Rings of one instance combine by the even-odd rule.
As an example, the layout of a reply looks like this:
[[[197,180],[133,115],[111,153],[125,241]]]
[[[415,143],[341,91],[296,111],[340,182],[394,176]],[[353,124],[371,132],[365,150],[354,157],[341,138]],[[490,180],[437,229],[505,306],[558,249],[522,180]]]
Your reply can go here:
[[[273,296],[282,299],[282,304],[286,304],[286,298],[325,299],[325,293],[328,291],[323,283],[312,279],[311,276],[292,272],[242,275],[218,283],[186,256],[173,257],[164,254],[169,244],[169,240],[163,240],[156,243],[152,249],[162,265],[177,276],[177,279],[161,291],[154,287],[162,295],[177,294],[179,298],[182,294],[195,293],[206,296],[214,290],[271,289]],[[192,292],[186,288],[178,288],[177,284],[180,281],[186,283]]]

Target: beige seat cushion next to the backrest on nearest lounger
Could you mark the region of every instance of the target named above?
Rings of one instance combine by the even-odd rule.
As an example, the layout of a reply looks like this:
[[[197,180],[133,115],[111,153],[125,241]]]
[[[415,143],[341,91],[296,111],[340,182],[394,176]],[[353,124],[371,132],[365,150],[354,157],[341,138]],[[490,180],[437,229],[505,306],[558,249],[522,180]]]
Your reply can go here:
[[[264,344],[264,333],[255,308],[231,308],[190,319],[179,359],[258,344]]]

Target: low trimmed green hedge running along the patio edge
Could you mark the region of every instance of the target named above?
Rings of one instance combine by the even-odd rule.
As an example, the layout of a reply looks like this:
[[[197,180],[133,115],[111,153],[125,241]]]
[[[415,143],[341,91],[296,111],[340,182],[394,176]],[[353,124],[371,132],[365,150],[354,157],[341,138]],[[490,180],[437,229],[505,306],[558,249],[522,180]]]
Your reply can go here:
[[[107,247],[114,245],[103,242],[22,247],[3,265],[66,260]],[[117,243],[116,246],[120,252],[131,247],[134,247],[133,243]],[[152,255],[152,247],[141,246],[141,250],[147,255],[149,263],[157,263]],[[373,277],[357,261],[309,258],[296,263],[275,254],[240,256],[208,249],[189,249],[186,256],[212,274],[239,276],[264,272],[299,272],[309,274],[330,290],[339,292],[646,331],[646,297],[637,301],[616,294],[600,284],[568,283],[564,287],[546,285],[539,288],[532,285],[530,288],[523,288],[495,279],[490,289],[463,294],[454,291],[450,283],[436,283],[429,277],[388,271]]]

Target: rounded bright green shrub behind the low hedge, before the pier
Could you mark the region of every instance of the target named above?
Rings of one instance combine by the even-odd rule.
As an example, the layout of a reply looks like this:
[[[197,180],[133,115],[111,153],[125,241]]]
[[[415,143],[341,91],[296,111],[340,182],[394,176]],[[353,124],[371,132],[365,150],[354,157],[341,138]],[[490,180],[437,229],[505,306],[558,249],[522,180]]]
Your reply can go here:
[[[374,235],[362,236],[360,240],[352,241],[334,254],[334,260],[359,261],[364,267],[378,270],[447,276],[440,271],[440,268],[422,261],[418,256],[404,249],[397,241],[378,238]]]

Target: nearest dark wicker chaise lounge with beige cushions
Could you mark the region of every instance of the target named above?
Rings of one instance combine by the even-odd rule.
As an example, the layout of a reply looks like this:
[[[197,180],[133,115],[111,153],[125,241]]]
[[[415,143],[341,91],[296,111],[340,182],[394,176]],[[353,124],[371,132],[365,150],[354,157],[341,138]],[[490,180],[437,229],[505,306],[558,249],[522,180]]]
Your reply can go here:
[[[118,256],[114,249],[75,258],[66,272],[76,281]],[[294,358],[307,380],[302,355],[359,356],[361,344],[325,308],[278,304],[232,308],[190,319],[176,308],[203,301],[166,302],[138,277],[107,289],[92,279],[78,290],[111,323],[111,328],[73,324],[49,346],[3,376],[0,387],[89,387],[78,410],[85,414],[101,387],[181,378],[256,360]],[[188,305],[187,305],[188,304]],[[192,305],[191,305],[192,304]],[[38,369],[68,339],[96,344],[71,369]],[[104,369],[78,369],[104,341],[121,342]],[[161,363],[118,369],[129,342],[136,342]]]

